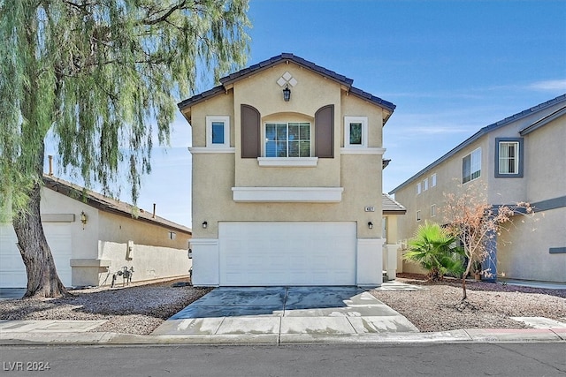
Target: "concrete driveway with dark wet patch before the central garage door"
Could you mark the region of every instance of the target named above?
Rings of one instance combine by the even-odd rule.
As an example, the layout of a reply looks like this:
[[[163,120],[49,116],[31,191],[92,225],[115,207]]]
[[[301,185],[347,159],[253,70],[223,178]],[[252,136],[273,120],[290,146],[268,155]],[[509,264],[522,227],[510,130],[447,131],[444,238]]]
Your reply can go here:
[[[360,288],[257,287],[212,290],[166,320],[152,335],[281,337],[387,332],[418,329]]]

